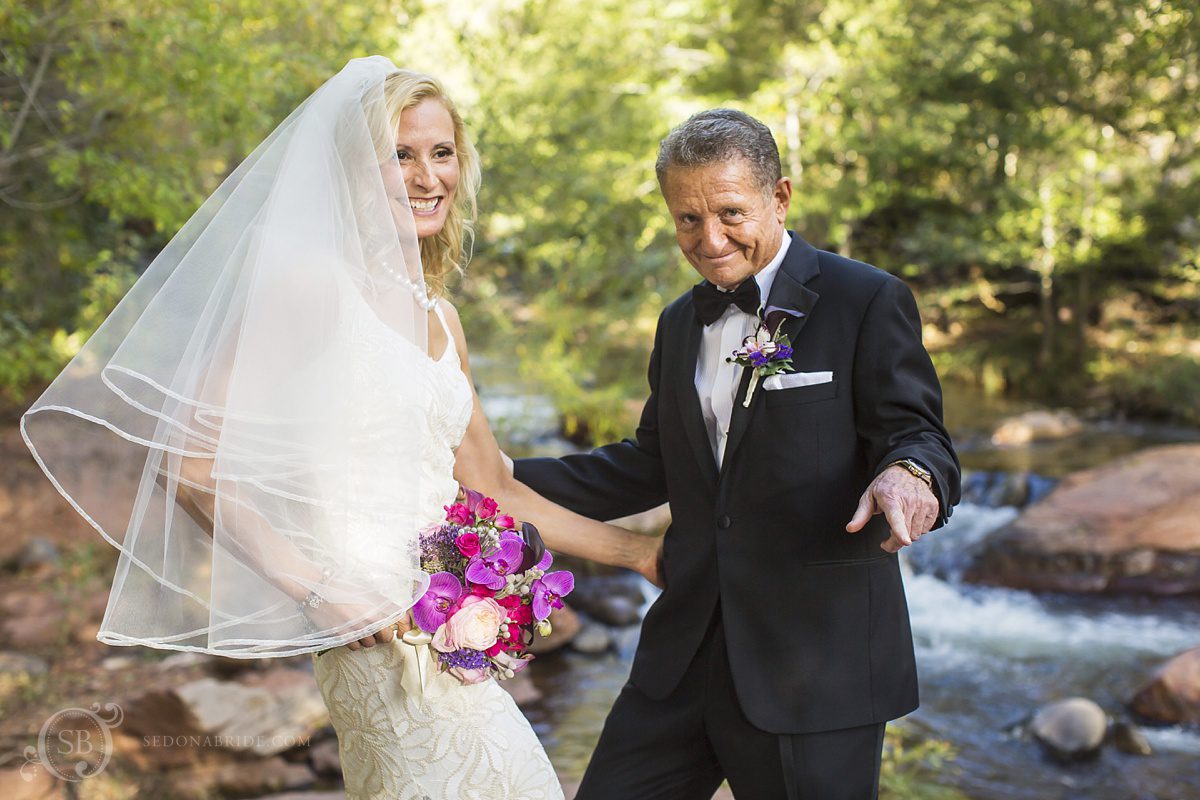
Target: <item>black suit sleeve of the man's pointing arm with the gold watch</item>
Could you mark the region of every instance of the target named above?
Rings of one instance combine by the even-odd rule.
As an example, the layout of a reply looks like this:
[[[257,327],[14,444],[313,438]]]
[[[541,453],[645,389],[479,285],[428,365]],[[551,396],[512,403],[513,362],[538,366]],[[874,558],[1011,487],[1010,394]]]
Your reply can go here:
[[[961,499],[961,468],[942,422],[942,387],[920,339],[917,302],[895,277],[884,281],[863,317],[854,416],[875,475],[904,458],[932,473],[941,506],[934,528],[944,525]]]

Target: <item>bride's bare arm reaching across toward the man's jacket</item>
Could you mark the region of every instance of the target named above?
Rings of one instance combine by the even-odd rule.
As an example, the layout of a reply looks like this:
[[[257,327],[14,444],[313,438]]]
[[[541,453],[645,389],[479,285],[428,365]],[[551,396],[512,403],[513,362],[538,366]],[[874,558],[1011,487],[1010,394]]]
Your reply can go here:
[[[582,517],[551,503],[512,477],[475,395],[467,359],[467,338],[458,314],[445,301],[443,308],[454,333],[454,347],[458,351],[462,371],[467,375],[467,383],[472,385],[473,399],[470,423],[455,459],[455,479],[466,487],[496,498],[505,513],[538,525],[551,549],[636,570],[652,582],[661,583],[658,569],[660,537],[635,534]]]

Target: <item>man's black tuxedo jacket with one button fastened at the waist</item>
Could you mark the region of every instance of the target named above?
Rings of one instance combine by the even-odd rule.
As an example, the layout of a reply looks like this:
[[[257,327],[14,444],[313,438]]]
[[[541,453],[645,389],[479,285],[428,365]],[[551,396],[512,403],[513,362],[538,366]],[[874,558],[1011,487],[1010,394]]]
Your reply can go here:
[[[596,519],[670,501],[667,585],[630,676],[648,696],[678,685],[719,607],[738,699],[756,727],[794,734],[893,720],[917,708],[900,565],[880,549],[882,515],[857,534],[845,525],[900,458],[932,471],[938,527],[959,500],[917,305],[892,275],[794,234],[767,305],[803,313],[784,324],[792,371],[830,371],[833,380],[760,385],[743,408],[744,371],[720,471],[695,389],[702,325],[689,291],[659,318],[636,438],[522,459],[516,477]]]

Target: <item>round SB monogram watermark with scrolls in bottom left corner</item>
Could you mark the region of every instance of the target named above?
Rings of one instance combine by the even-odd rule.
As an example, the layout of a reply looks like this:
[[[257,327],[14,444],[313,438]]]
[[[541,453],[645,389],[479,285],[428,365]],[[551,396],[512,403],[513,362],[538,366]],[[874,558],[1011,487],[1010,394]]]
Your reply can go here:
[[[32,781],[38,769],[72,782],[100,775],[113,756],[112,730],[124,718],[125,711],[115,703],[55,712],[37,733],[37,747],[25,747],[22,778]]]

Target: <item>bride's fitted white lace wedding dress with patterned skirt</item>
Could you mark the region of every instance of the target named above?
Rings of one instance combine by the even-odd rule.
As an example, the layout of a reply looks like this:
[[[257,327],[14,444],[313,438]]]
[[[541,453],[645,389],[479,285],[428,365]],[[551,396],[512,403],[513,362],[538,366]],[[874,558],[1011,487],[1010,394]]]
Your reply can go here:
[[[440,306],[437,312],[445,326]],[[352,335],[370,349],[397,345],[380,330]],[[472,413],[452,339],[433,367],[436,391],[427,393],[433,401],[413,409],[427,415],[432,434],[421,453],[424,485],[432,487],[425,499],[428,522],[443,519],[443,506],[457,493],[454,451]],[[355,479],[386,480],[365,467]],[[400,638],[359,650],[334,648],[313,654],[312,662],[337,732],[348,800],[562,800],[533,728],[494,680],[464,686],[434,669],[428,646]]]

